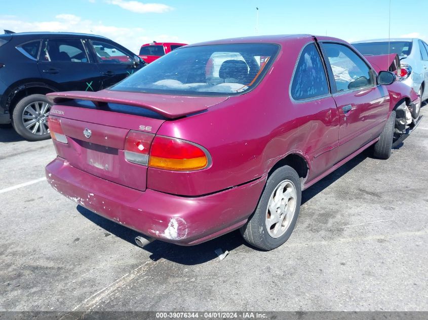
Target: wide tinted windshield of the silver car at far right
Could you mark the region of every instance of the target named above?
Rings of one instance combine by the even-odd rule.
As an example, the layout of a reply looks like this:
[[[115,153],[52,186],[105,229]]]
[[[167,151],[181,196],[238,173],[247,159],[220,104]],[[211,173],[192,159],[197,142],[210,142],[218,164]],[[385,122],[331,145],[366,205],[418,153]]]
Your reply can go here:
[[[366,56],[397,54],[400,57],[406,57],[412,51],[411,41],[365,42],[353,43],[352,45]]]

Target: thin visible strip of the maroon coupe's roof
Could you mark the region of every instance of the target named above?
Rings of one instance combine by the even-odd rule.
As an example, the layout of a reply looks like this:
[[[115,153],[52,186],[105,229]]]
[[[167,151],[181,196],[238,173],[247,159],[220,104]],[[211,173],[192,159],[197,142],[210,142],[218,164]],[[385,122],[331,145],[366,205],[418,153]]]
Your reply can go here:
[[[313,39],[317,38],[318,40],[331,40],[331,41],[340,41],[345,42],[338,38],[327,37],[327,36],[317,36],[311,34],[276,34],[276,35],[258,35],[258,36],[250,36],[250,37],[240,37],[240,38],[229,38],[229,39],[221,39],[221,40],[213,40],[206,42],[199,42],[187,45],[187,47],[193,47],[197,45],[207,45],[207,44],[226,44],[226,43],[279,43],[285,44],[289,42],[293,42],[299,39]]]

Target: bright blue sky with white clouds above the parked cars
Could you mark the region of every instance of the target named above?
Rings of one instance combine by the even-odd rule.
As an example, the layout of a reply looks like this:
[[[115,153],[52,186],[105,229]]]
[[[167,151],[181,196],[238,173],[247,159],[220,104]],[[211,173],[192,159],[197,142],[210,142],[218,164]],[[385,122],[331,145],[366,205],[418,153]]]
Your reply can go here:
[[[0,30],[85,32],[134,53],[143,43],[195,43],[309,33],[346,41],[387,38],[390,0],[0,0]],[[258,10],[258,24],[257,10]],[[391,0],[391,37],[428,40],[426,0]]]

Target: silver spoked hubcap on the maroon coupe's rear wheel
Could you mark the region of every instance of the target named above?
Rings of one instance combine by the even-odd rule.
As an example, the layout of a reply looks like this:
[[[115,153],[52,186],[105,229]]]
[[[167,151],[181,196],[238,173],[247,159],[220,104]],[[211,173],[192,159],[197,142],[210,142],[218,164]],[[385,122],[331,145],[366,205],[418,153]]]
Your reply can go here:
[[[296,212],[296,187],[283,180],[270,195],[266,210],[266,228],[270,237],[279,238],[288,230]]]

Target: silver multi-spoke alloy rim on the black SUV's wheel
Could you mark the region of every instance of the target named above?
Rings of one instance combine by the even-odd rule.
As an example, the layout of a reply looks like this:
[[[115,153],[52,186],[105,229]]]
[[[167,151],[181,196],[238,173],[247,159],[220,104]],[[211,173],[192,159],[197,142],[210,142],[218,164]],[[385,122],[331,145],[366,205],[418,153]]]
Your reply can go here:
[[[22,112],[22,123],[25,128],[33,134],[48,134],[48,116],[51,107],[44,101],[35,101],[26,106]]]

